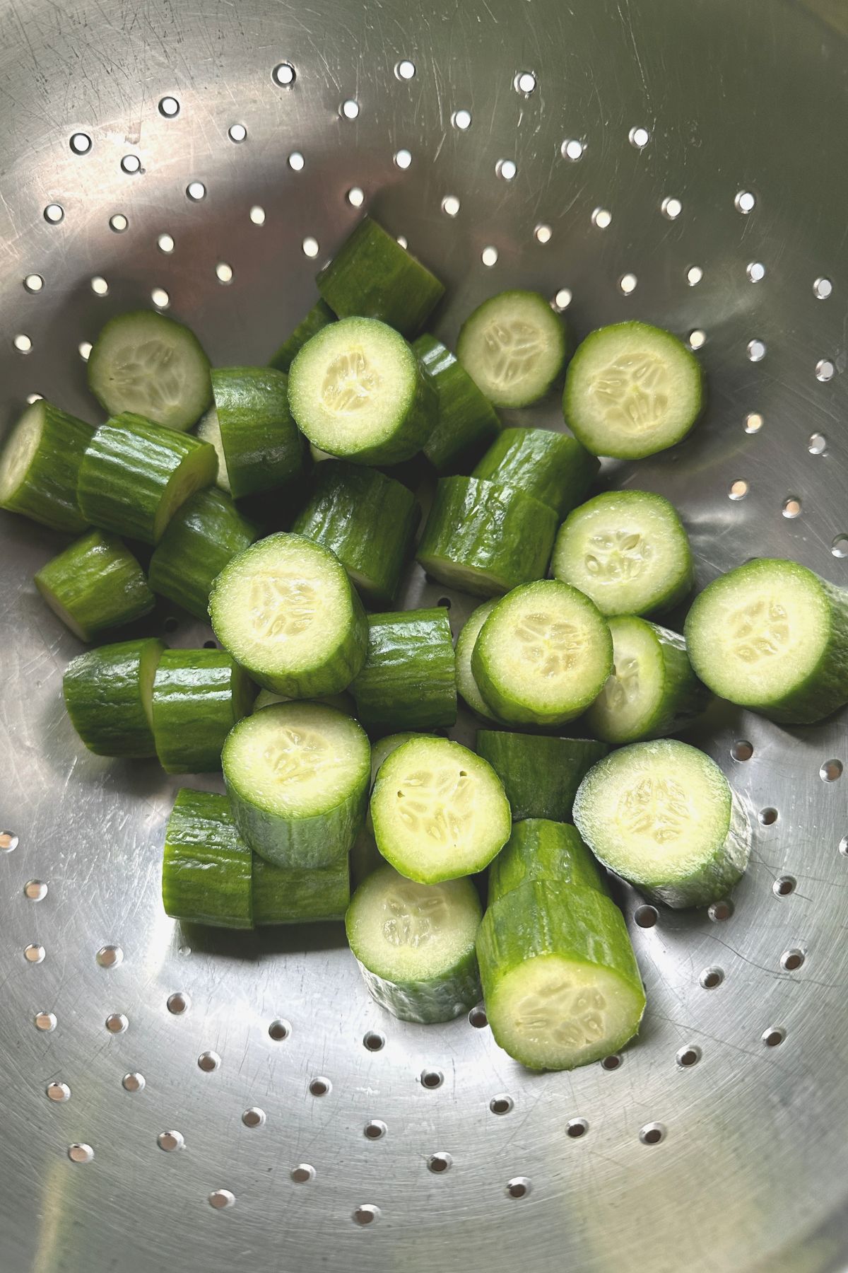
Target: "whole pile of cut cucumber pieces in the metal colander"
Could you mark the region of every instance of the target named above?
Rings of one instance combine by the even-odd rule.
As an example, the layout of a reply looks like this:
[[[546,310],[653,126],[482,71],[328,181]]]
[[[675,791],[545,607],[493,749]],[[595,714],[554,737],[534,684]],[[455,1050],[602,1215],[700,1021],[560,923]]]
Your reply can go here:
[[[220,644],[90,648],[65,673],[70,718],[98,755],[222,770],[226,794],[177,794],[169,915],[345,917],[395,1016],[448,1021],[482,993],[524,1064],[596,1060],[645,1008],[608,872],[685,908],[748,863],[742,803],[669,736],[711,691],[788,724],[842,707],[848,593],[756,559],[697,597],[685,636],[653,621],[693,587],[680,517],[648,491],[587,495],[598,456],[694,425],[701,368],[669,332],[617,323],[572,353],[543,297],[506,292],[454,354],[421,335],[441,283],[370,218],[318,289],[263,368],[211,369],[179,323],[116,317],[88,364],[107,423],[38,401],[11,430],[0,505],[81,536],[36,575],[69,629],[92,642],[159,594]],[[538,401],[566,364],[572,435],[501,426],[497,407]],[[455,649],[444,606],[392,610],[413,551],[484,598]],[[477,752],[444,736],[458,693]],[[564,736],[577,718],[590,737]]]

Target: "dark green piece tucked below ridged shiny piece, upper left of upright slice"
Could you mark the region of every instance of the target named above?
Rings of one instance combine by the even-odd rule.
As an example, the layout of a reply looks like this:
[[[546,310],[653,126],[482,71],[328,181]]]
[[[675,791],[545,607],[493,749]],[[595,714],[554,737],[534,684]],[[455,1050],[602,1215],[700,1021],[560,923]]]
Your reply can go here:
[[[207,486],[178,508],[150,558],[150,587],[197,619],[209,619],[209,597],[228,561],[257,538],[229,495]]]

